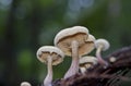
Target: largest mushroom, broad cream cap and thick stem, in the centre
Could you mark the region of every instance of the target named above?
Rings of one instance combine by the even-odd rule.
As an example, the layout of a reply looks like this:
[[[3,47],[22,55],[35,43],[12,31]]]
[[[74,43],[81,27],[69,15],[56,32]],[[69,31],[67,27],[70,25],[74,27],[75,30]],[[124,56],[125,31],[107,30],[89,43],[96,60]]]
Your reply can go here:
[[[72,63],[64,75],[68,78],[79,72],[79,58],[90,53],[94,49],[94,41],[87,40],[88,29],[83,26],[74,26],[60,30],[55,37],[55,46],[64,54],[72,56]]]

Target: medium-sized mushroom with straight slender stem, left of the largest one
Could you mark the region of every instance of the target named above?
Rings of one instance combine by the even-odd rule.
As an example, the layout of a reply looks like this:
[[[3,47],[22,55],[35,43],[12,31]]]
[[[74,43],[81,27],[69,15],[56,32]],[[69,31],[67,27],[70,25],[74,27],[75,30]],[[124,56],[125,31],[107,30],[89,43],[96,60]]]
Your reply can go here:
[[[47,64],[48,74],[44,79],[45,86],[51,86],[52,65],[57,65],[63,61],[64,53],[57,47],[44,46],[37,51],[37,59]]]

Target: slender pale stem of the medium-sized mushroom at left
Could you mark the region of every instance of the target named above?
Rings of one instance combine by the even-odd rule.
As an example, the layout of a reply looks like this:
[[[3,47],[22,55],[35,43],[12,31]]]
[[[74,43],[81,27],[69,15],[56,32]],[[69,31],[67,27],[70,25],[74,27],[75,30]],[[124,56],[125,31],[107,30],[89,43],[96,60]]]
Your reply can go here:
[[[52,82],[52,59],[51,57],[49,56],[47,58],[47,70],[48,70],[48,74],[46,76],[46,78],[44,79],[44,85],[45,86],[51,86],[51,82]]]

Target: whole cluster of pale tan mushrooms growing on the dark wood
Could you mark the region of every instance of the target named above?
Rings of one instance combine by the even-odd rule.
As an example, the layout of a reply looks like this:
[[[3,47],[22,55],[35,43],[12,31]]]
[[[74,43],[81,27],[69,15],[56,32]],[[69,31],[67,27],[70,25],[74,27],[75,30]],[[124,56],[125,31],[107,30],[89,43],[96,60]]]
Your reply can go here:
[[[37,50],[37,59],[47,64],[47,76],[44,79],[45,86],[51,86],[52,65],[61,63],[64,56],[72,57],[71,66],[64,74],[63,79],[79,73],[84,73],[87,69],[96,64],[108,66],[102,58],[102,51],[109,48],[106,39],[95,39],[84,26],[73,26],[60,30],[53,40],[55,46],[43,46]],[[87,56],[96,48],[96,56]],[[29,85],[21,85],[29,86]]]

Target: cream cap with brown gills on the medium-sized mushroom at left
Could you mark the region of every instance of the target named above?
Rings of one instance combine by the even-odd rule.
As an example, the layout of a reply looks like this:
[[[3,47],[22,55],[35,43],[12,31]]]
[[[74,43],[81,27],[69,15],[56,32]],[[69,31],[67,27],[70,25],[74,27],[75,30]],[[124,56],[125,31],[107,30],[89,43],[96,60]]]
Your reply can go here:
[[[47,64],[47,58],[52,58],[52,65],[57,65],[63,61],[64,53],[57,47],[43,46],[37,50],[37,59]]]

